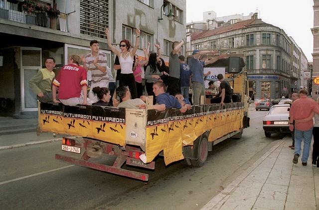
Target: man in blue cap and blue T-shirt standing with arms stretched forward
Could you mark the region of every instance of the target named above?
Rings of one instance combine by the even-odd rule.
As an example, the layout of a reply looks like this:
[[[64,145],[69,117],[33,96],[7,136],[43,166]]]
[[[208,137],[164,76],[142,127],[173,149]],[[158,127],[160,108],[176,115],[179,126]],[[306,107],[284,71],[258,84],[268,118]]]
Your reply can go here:
[[[190,59],[190,69],[193,72],[191,78],[191,84],[193,89],[193,105],[200,104],[200,96],[205,96],[205,83],[204,83],[204,66],[210,63],[214,63],[219,59],[223,59],[225,55],[219,55],[218,57],[212,58],[210,60],[199,61],[200,55],[202,54],[217,54],[217,51],[199,51],[198,49],[193,50],[192,58]]]

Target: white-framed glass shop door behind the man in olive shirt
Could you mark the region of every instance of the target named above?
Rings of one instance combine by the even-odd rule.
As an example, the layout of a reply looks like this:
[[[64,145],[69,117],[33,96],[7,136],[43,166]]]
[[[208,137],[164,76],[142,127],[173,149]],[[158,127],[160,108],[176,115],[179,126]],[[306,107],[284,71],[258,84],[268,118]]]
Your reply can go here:
[[[21,108],[37,111],[36,94],[29,88],[29,80],[42,68],[41,48],[21,47]]]

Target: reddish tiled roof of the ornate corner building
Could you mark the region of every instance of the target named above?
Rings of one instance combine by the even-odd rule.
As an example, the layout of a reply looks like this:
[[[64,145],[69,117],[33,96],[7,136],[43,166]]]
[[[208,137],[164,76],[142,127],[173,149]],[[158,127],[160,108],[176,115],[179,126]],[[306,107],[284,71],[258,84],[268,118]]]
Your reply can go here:
[[[195,34],[194,36],[192,36],[191,40],[204,38],[204,37],[208,37],[208,36],[224,33],[224,32],[227,32],[227,31],[237,30],[237,29],[240,29],[240,28],[245,28],[245,27],[249,27],[251,25],[257,25],[257,24],[268,24],[268,23],[262,21],[261,19],[243,20],[243,21],[240,21],[240,22],[236,22],[234,24],[225,25],[225,26],[218,27],[218,28],[215,28],[215,29],[204,30],[203,32]],[[268,25],[271,25],[271,24],[268,24]]]

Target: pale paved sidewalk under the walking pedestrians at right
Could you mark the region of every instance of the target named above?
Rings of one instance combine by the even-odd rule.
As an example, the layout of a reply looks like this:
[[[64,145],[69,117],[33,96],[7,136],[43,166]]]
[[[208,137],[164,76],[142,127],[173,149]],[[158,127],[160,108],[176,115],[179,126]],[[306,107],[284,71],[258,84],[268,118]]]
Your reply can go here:
[[[279,140],[202,210],[319,209],[319,168],[312,165],[311,155],[307,166],[301,157],[293,164],[289,145],[290,137]]]

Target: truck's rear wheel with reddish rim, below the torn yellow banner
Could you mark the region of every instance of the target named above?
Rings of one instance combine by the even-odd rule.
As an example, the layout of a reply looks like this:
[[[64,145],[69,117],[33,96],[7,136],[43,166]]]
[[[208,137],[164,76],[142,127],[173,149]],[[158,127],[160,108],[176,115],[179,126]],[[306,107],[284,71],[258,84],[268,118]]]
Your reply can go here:
[[[195,167],[201,167],[205,164],[208,156],[208,141],[206,137],[195,141],[194,147],[197,149],[197,160],[190,160],[191,165]]]

